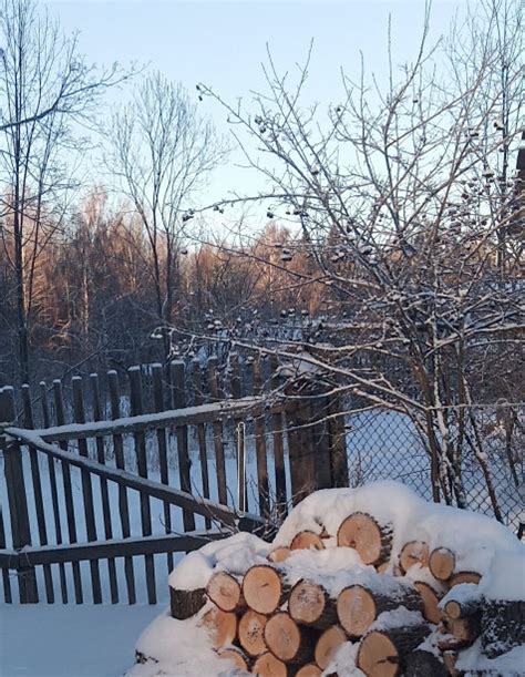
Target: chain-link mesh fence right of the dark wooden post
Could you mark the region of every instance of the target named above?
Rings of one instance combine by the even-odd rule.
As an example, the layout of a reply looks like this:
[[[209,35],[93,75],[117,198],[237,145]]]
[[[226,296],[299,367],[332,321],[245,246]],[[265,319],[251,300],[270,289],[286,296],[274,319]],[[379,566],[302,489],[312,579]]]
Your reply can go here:
[[[480,407],[470,413],[472,417],[449,419],[451,445],[461,455],[466,505],[495,514],[482,466],[485,464],[502,519],[517,531],[525,522],[525,407]],[[346,430],[351,486],[391,479],[432,500],[428,444],[410,417],[383,408],[369,409],[349,413]]]

